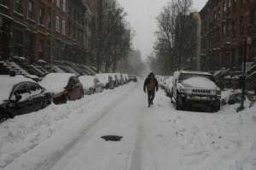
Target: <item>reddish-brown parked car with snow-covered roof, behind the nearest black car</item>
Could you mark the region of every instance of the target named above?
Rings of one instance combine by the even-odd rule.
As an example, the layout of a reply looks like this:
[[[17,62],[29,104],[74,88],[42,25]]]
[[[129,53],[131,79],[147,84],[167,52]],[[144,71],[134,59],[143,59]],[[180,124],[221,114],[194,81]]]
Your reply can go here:
[[[54,94],[56,105],[67,103],[67,100],[81,99],[84,96],[83,85],[74,74],[49,73],[40,84]]]

